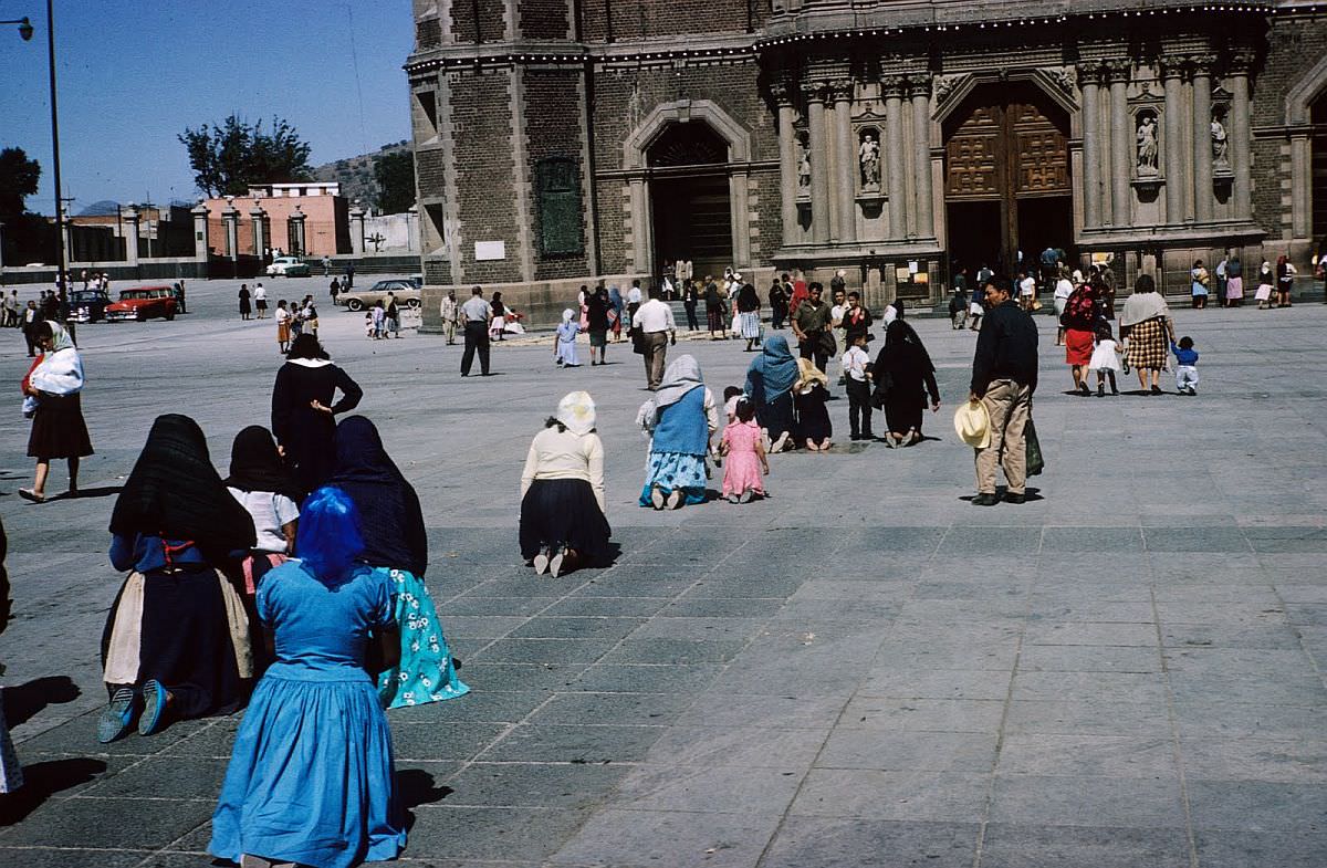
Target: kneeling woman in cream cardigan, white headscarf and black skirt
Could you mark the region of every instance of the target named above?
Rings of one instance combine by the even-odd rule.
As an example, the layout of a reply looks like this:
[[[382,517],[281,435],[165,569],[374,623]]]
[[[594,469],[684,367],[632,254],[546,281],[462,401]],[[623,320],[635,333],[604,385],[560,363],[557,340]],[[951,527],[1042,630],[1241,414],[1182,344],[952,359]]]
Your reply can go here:
[[[610,560],[604,518],[604,445],[594,401],[572,392],[535,435],[520,474],[520,553],[555,577]]]

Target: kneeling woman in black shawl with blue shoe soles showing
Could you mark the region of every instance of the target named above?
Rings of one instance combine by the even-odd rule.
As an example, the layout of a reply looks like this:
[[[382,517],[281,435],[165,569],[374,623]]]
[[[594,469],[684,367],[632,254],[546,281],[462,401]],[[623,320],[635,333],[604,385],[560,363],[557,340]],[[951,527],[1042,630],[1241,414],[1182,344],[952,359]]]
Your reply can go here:
[[[110,516],[110,563],[130,572],[102,634],[110,705],[97,738],[243,705],[248,618],[219,567],[253,547],[253,520],[222,484],[194,419],[153,423]]]

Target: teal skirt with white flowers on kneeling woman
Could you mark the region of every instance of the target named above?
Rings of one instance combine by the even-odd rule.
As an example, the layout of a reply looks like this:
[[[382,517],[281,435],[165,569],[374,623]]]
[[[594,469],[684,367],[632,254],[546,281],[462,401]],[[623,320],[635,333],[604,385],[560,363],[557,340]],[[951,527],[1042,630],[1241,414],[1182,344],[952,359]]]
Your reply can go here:
[[[385,709],[455,699],[470,693],[442,634],[442,620],[423,581],[407,569],[377,567],[391,577],[391,600],[401,626],[401,662],[378,676]]]

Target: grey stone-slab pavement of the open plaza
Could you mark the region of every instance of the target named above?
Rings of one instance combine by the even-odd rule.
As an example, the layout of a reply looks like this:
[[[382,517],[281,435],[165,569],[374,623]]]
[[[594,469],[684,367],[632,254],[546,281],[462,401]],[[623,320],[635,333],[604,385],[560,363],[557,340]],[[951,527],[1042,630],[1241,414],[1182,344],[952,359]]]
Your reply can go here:
[[[322,280],[268,281],[272,297]],[[309,287],[305,289],[305,287]],[[318,287],[314,289],[313,287]],[[17,333],[0,414],[15,621],[5,703],[29,795],[0,864],[207,865],[238,717],[100,746],[106,526],[153,418],[224,470],[267,423],[275,325],[194,284],[175,323],[84,326],[89,496],[31,506]],[[283,292],[284,291],[284,292]],[[774,498],[634,506],[637,357],[548,344],[460,380],[438,337],[370,342],[322,309],[360,410],[419,490],[429,585],[466,698],[391,711],[414,865],[1320,868],[1327,864],[1327,308],[1177,309],[1197,398],[1064,394],[1040,319],[1040,498],[974,508],[950,415],[974,334],[918,321],[937,439],[774,457]],[[740,344],[679,342],[715,393]],[[1127,388],[1136,389],[1136,380]],[[589,389],[621,556],[536,577],[516,549],[529,437]],[[832,406],[839,433],[847,401]],[[60,491],[64,469],[53,472]],[[718,487],[718,479],[715,479]]]

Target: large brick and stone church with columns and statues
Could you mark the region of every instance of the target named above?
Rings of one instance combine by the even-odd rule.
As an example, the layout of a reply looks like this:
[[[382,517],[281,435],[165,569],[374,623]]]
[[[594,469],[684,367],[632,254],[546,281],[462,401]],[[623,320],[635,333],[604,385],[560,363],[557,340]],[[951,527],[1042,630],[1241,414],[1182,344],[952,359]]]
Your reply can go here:
[[[427,317],[683,257],[872,304],[1059,247],[1172,291],[1327,234],[1327,7],[415,0]],[[427,323],[426,323],[427,324]]]

